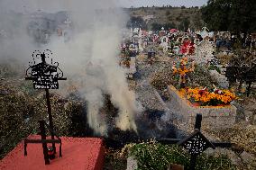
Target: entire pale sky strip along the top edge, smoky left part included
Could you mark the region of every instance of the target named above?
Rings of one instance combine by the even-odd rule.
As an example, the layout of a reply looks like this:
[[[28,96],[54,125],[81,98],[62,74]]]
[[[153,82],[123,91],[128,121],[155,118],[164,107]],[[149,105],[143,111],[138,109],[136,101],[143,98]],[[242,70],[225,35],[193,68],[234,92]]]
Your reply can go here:
[[[86,3],[85,3],[86,2]],[[181,6],[185,5],[190,6],[202,6],[207,3],[207,0],[105,0],[107,4],[116,4],[116,6],[122,7],[142,7],[142,6],[162,6],[171,5],[171,6]],[[0,0],[0,12],[5,12],[13,10],[16,12],[32,12],[32,9],[41,9],[46,12],[53,12],[56,9],[61,10],[63,6],[67,8],[70,4],[88,4],[86,0]],[[101,1],[95,0],[95,4],[101,7],[109,7],[101,4]],[[88,4],[90,5],[90,4]],[[84,8],[84,6],[79,6]],[[114,6],[113,6],[114,7]]]

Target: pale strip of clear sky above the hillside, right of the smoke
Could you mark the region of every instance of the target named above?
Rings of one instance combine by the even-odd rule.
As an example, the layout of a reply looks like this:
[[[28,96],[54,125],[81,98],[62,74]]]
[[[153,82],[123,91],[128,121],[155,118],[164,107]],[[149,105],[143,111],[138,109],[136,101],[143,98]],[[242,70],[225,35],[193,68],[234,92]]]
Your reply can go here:
[[[202,6],[207,3],[207,0],[118,0],[123,7],[140,7],[140,6]]]

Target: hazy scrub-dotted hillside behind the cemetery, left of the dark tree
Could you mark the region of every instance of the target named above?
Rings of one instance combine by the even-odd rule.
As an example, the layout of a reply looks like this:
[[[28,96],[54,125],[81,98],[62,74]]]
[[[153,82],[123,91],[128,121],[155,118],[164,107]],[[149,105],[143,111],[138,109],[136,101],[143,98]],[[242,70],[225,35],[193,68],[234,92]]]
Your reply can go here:
[[[204,25],[198,7],[140,7],[126,10],[130,14],[133,24],[140,22],[139,24],[144,29],[159,30],[163,26],[166,29],[187,30],[190,28],[197,30]]]

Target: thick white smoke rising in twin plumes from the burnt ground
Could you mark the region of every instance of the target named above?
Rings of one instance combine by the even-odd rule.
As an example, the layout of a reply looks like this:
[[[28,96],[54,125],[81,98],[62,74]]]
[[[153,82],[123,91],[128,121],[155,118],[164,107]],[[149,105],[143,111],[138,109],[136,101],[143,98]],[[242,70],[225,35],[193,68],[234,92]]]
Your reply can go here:
[[[1,9],[6,10],[12,2],[16,1],[0,1]],[[103,94],[110,94],[111,102],[119,109],[115,122],[121,130],[136,131],[134,114],[139,112],[135,95],[128,90],[124,70],[118,64],[121,33],[127,16],[116,4],[114,0],[23,0],[12,6],[12,10],[21,10],[23,13],[37,9],[50,13],[63,10],[69,12],[72,25],[72,31],[69,32],[70,40],[64,42],[56,36],[41,48],[51,49],[53,59],[59,61],[69,82],[79,86],[78,91],[88,104],[88,123],[100,135],[107,134],[105,116],[99,112],[104,104]],[[2,20],[5,21],[5,18],[1,18],[0,24]],[[19,49],[21,54],[32,53],[32,48],[35,47],[31,40],[27,36],[18,39],[19,37],[14,37],[14,41],[17,41],[12,43],[14,46],[23,47]],[[5,40],[4,44],[7,42],[10,43]],[[21,58],[19,52],[12,52],[11,49],[3,49],[3,51],[0,51],[1,58],[6,56],[4,54]],[[26,60],[30,59],[26,57]]]

